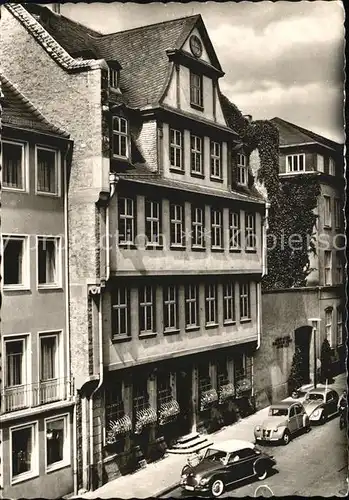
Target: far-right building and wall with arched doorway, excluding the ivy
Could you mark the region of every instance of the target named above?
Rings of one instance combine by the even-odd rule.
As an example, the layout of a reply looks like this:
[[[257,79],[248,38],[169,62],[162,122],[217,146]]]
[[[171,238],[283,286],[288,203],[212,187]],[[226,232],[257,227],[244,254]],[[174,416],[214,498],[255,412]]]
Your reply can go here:
[[[268,393],[269,400],[287,395],[297,346],[306,381],[314,379],[315,365],[319,372],[324,338],[332,347],[334,373],[344,370],[346,357],[343,145],[281,118],[271,122],[280,134],[280,183],[316,179],[320,192],[311,238],[315,254],[309,254],[306,287],[263,292],[266,334],[256,360],[260,373],[256,390],[261,399]]]

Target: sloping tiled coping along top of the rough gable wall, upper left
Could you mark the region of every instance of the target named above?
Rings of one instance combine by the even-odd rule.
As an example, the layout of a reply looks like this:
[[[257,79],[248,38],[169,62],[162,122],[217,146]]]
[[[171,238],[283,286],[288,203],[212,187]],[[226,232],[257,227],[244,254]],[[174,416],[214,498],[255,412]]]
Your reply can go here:
[[[90,70],[101,68],[104,60],[78,60],[68,52],[43,28],[43,26],[21,4],[7,3],[5,7],[19,20],[25,29],[40,43],[45,51],[65,70]]]

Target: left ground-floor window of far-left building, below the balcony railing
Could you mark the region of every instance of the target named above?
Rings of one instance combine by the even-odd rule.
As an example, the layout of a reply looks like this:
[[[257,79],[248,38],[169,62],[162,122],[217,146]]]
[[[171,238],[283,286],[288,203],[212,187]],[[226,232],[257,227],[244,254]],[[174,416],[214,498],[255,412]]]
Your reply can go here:
[[[36,424],[11,429],[12,479],[30,476],[37,466]]]

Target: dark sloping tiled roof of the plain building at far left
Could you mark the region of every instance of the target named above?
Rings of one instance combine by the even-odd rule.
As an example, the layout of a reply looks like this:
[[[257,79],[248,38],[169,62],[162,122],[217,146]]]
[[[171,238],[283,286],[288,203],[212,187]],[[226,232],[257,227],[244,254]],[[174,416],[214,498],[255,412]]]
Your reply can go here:
[[[4,94],[2,102],[3,125],[69,137],[68,132],[50,123],[3,75],[0,75],[0,82]]]

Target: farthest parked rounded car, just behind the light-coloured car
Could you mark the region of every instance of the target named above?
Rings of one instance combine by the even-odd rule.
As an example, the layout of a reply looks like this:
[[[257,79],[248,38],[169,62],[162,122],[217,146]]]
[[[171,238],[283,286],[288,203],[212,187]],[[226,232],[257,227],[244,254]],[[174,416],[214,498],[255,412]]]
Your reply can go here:
[[[338,413],[339,395],[333,389],[316,387],[311,389],[303,401],[310,422],[324,424],[326,420]]]

